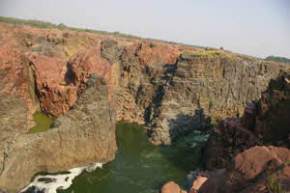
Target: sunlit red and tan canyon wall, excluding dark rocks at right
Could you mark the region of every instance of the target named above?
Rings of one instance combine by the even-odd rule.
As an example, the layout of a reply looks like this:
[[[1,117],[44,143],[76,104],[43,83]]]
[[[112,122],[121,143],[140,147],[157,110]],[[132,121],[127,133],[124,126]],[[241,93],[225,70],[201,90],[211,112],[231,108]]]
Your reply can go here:
[[[0,42],[0,94],[15,98],[8,117],[19,125],[14,137],[2,134],[11,130],[9,122],[0,128],[7,138],[1,143],[0,187],[13,191],[40,171],[113,159],[115,115],[145,124],[153,143],[171,144],[178,135],[242,114],[271,79],[289,71],[283,63],[225,50],[66,28],[0,22]],[[97,89],[88,87],[92,75],[104,81],[97,81]],[[59,118],[49,131],[27,134],[37,110]]]

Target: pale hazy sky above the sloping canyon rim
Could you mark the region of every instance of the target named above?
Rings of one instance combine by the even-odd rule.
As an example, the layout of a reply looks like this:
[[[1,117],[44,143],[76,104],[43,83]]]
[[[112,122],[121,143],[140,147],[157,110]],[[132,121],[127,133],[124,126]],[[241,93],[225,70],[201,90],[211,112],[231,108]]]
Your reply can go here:
[[[0,0],[0,15],[290,57],[290,0]]]

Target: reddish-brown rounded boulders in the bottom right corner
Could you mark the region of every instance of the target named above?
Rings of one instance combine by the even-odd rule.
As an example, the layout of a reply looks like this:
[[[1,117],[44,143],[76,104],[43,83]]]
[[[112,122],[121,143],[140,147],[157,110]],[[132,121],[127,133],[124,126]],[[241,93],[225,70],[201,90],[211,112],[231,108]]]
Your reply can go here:
[[[273,146],[252,147],[234,159],[227,171],[208,173],[201,193],[267,193],[290,191],[290,151]],[[218,180],[219,179],[219,180]]]

